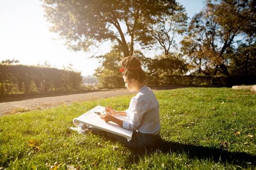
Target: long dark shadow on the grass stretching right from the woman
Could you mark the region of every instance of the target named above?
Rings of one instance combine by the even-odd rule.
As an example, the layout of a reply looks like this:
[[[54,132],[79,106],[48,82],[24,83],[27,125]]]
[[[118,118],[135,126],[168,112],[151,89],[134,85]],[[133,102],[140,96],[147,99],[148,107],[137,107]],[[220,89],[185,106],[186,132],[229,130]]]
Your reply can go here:
[[[169,153],[175,152],[177,154],[185,153],[190,159],[207,159],[216,163],[230,163],[238,166],[256,166],[256,156],[244,152],[230,152],[220,148],[210,148],[205,146],[194,146],[191,144],[180,144],[177,142],[166,141],[159,139],[154,148],[150,151],[132,150],[137,159],[143,156],[146,152]],[[134,158],[133,158],[134,159]]]

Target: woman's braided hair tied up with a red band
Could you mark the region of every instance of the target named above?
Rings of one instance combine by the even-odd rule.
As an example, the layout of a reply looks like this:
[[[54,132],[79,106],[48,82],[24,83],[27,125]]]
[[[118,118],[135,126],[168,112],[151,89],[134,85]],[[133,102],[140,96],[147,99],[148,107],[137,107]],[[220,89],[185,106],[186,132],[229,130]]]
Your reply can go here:
[[[121,66],[123,67],[123,76],[128,79],[137,79],[139,82],[144,82],[146,75],[141,69],[141,62],[137,57],[128,56],[121,60]]]

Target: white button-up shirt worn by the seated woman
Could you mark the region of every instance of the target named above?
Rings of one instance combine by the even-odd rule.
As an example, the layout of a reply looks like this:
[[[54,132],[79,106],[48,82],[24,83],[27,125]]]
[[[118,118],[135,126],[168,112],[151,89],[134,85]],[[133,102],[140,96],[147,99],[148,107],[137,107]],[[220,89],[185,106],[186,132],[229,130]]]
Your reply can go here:
[[[137,95],[132,97],[126,116],[129,120],[123,122],[124,128],[151,135],[159,134],[159,104],[149,87],[143,86]]]

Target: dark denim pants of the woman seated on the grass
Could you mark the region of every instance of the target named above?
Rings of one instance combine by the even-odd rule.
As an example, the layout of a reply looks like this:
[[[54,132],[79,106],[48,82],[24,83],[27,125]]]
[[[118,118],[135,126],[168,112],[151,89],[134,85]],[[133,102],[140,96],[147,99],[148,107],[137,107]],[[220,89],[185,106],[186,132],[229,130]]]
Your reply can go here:
[[[100,133],[106,133],[106,131],[99,130],[97,128],[92,128],[92,133],[99,134]],[[127,141],[125,137],[107,132],[108,136],[114,137],[115,139],[119,140],[122,144],[125,146],[128,146],[129,148],[136,148],[136,149],[149,149],[152,146],[155,145],[157,142],[157,139],[159,138],[159,135],[150,135],[146,133],[141,133],[139,131],[133,131],[132,133],[132,139],[130,141]]]

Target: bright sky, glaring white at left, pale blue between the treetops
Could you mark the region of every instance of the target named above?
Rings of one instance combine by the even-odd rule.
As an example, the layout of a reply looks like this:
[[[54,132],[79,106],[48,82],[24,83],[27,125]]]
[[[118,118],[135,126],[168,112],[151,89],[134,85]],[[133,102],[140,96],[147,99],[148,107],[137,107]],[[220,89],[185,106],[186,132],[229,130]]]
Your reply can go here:
[[[203,0],[176,0],[188,16],[193,17],[203,8]],[[18,64],[37,65],[45,61],[62,69],[72,64],[81,75],[92,75],[99,66],[91,55],[110,51],[110,44],[102,44],[90,52],[70,51],[56,33],[49,31],[40,0],[0,0],[0,62],[17,59]]]

